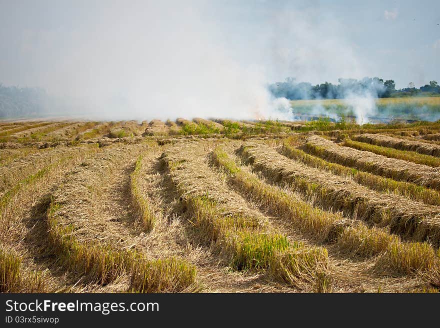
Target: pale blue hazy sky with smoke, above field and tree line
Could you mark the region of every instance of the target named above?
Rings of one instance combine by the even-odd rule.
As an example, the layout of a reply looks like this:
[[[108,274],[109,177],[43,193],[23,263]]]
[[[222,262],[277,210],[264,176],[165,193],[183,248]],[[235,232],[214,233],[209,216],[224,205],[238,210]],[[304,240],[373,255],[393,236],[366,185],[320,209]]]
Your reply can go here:
[[[0,0],[0,82],[138,114],[258,111],[286,76],[440,82],[439,24],[438,0]]]

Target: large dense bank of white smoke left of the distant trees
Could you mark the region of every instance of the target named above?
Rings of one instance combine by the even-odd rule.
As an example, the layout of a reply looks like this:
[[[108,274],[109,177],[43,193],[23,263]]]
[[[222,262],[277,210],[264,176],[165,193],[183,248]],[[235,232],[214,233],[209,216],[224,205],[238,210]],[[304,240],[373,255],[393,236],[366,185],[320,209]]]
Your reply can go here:
[[[221,28],[205,16],[214,4],[81,5],[87,14],[74,17],[71,28],[47,30],[40,21],[19,35],[28,73],[17,81],[55,95],[53,111],[96,119],[267,114],[264,74],[255,63],[235,59],[215,38]]]

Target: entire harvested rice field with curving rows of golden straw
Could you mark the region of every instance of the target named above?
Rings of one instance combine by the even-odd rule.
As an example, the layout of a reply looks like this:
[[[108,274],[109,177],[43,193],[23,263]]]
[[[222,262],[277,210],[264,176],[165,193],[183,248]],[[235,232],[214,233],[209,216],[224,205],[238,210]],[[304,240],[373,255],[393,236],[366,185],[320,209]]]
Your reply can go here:
[[[0,292],[438,293],[439,133],[0,122]]]

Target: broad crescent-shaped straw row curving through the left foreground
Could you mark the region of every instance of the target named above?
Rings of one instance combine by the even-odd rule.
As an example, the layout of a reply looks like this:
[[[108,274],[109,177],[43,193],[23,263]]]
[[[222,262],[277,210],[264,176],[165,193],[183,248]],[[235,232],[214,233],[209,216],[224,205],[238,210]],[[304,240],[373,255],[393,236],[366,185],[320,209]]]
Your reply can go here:
[[[78,167],[50,204],[48,239],[60,265],[105,291],[196,288],[195,268],[177,257],[152,258],[133,225],[127,206],[129,172],[139,153],[149,147],[108,147]]]

